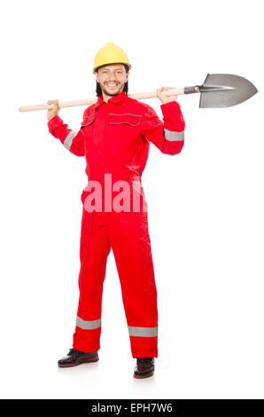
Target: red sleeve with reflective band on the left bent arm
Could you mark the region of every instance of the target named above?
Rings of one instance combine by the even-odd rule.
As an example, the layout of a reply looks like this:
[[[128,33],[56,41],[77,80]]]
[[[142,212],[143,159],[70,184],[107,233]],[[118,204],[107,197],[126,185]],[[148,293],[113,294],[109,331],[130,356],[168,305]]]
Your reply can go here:
[[[54,138],[58,138],[68,151],[76,156],[84,156],[84,138],[82,130],[75,133],[74,130],[68,128],[68,125],[58,116],[52,117],[48,122],[48,128]]]

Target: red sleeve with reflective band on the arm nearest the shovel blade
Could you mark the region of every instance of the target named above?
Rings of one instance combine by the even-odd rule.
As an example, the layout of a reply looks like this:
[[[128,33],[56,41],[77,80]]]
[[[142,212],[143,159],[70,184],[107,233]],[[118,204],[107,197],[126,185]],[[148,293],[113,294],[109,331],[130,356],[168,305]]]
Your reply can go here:
[[[142,135],[162,153],[175,155],[182,151],[184,145],[185,122],[181,107],[176,101],[170,101],[162,104],[160,108],[164,122],[160,121],[156,112],[148,106],[142,122]]]

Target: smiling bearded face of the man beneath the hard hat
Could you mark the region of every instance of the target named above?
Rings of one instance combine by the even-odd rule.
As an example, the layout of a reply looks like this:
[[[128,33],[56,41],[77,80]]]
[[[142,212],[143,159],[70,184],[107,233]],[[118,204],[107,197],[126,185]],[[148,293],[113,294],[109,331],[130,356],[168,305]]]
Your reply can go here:
[[[128,73],[123,64],[109,64],[98,68],[97,83],[107,96],[116,96],[124,89],[128,81]]]

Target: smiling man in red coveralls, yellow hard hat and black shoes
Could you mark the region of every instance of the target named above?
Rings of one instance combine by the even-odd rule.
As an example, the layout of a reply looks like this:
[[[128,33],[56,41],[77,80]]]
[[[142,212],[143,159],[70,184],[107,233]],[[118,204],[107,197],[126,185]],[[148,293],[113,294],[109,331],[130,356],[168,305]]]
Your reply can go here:
[[[93,72],[98,99],[85,109],[78,133],[58,116],[58,100],[48,101],[53,105],[48,110],[50,133],[71,153],[85,156],[88,176],[82,192],[80,299],[74,343],[58,366],[98,360],[103,283],[112,248],[131,352],[136,358],[134,376],[145,378],[154,373],[154,358],[158,358],[158,310],[141,176],[150,143],[162,153],[182,151],[185,123],[176,96],[163,94],[168,88],[157,90],[164,122],[151,106],[129,98],[130,68],[126,53],[114,43],[106,43],[97,52]]]

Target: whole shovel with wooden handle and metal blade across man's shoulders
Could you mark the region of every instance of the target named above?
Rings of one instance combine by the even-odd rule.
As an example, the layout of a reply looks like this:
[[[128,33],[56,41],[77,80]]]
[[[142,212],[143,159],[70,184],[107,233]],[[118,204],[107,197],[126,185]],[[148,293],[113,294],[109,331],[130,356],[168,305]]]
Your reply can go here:
[[[258,90],[246,78],[231,74],[208,74],[202,85],[184,87],[182,89],[170,89],[164,91],[167,97],[200,93],[200,108],[230,107],[243,103],[251,98]],[[156,91],[128,94],[135,99],[155,98]],[[97,98],[59,102],[59,107],[88,106],[97,102]],[[19,107],[19,112],[31,112],[35,110],[51,110],[53,105],[36,105]]]

